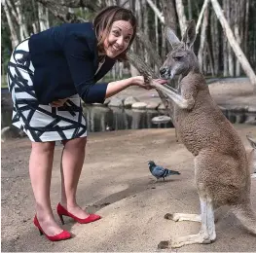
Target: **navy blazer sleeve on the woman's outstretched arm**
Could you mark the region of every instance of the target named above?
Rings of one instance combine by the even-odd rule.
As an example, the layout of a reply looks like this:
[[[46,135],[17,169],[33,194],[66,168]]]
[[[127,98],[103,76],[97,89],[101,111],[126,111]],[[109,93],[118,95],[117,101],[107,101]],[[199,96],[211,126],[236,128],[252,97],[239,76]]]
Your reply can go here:
[[[63,51],[69,70],[80,97],[86,103],[103,103],[107,84],[94,83],[94,53],[91,52],[87,38],[68,34],[63,42]]]

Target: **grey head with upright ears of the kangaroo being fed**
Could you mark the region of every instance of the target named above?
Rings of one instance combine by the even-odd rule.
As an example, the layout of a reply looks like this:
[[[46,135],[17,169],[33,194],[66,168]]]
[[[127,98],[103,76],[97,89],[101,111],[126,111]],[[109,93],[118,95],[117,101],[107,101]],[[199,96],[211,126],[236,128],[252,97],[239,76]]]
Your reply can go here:
[[[171,45],[172,51],[167,54],[166,60],[160,68],[161,78],[172,79],[175,75],[186,76],[191,70],[198,70],[198,59],[192,50],[196,40],[195,21],[190,21],[181,41],[168,27],[165,30],[165,36]]]

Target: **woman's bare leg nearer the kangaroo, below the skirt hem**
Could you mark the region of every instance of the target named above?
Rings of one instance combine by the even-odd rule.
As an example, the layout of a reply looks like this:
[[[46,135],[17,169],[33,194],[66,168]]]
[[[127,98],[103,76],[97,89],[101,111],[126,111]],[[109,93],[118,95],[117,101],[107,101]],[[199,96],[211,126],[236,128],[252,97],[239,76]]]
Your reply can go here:
[[[76,201],[78,181],[86,154],[87,137],[62,141],[61,201],[60,203],[78,218],[84,219],[89,214]]]

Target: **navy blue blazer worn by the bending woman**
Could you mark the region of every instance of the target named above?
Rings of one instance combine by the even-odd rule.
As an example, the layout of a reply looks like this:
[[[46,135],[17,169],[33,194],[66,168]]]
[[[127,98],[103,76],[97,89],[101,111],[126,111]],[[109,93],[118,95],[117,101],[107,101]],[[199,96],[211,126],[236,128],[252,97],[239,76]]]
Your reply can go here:
[[[78,93],[86,103],[103,103],[107,84],[95,84],[115,64],[105,57],[98,68],[97,39],[91,22],[66,23],[29,38],[32,78],[41,104]]]

